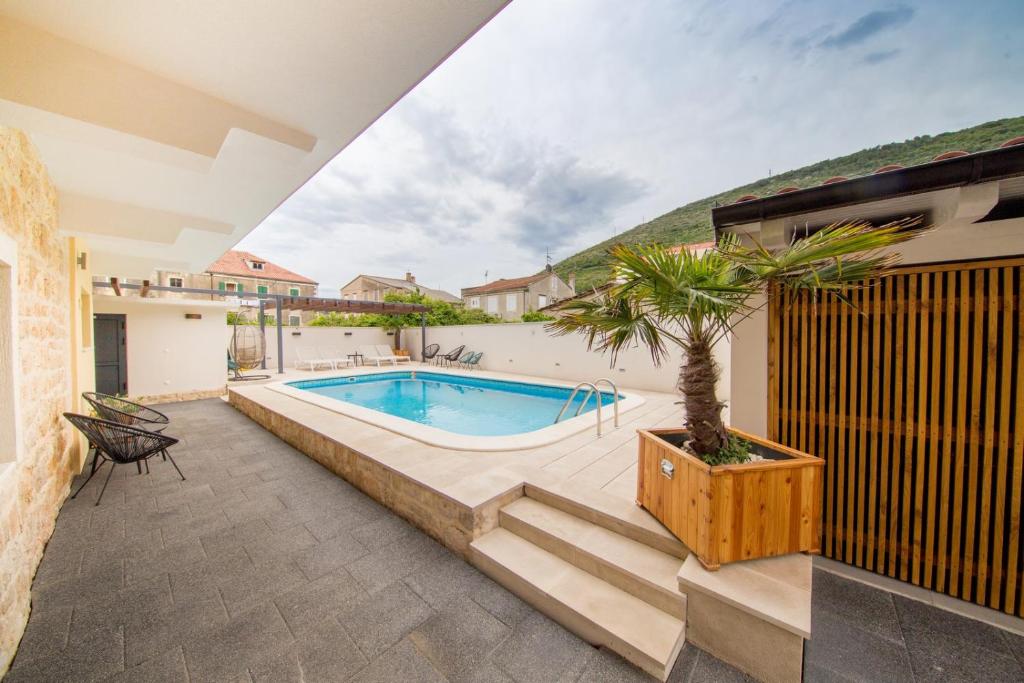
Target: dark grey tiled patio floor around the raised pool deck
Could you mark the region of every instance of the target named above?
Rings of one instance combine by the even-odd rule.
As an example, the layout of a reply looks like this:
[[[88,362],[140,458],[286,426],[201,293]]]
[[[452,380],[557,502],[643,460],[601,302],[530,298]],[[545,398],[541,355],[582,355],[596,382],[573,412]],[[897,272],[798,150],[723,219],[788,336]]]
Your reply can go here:
[[[213,399],[68,501],[6,681],[644,681]],[[97,477],[98,478],[98,477]],[[1021,680],[1024,639],[815,573],[806,680]],[[672,681],[748,680],[687,646]]]

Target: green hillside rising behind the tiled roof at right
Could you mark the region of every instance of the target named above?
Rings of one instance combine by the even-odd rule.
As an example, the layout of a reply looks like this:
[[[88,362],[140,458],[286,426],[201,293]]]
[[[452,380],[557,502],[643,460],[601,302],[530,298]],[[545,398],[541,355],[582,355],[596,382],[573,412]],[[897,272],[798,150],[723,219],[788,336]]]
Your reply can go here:
[[[810,187],[836,175],[847,177],[866,175],[886,164],[903,166],[923,164],[931,161],[936,155],[950,150],[966,152],[991,150],[1011,137],[1022,134],[1024,134],[1024,117],[1002,119],[951,133],[920,135],[904,142],[892,142],[861,150],[846,157],[779,173],[679,207],[558,262],[555,264],[555,270],[562,278],[575,272],[578,290],[595,287],[608,278],[605,253],[612,244],[658,242],[676,245],[712,240],[711,209],[716,204],[727,204],[743,195],[764,197],[787,185]]]

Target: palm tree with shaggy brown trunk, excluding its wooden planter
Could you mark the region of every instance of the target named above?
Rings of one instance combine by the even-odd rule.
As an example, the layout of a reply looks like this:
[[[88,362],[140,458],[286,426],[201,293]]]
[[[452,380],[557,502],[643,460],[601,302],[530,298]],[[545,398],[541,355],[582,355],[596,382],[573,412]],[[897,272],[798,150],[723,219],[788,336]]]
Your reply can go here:
[[[884,274],[898,259],[889,248],[919,236],[920,223],[839,223],[777,250],[744,246],[731,236],[699,255],[615,245],[609,250],[615,286],[600,299],[566,304],[547,328],[555,335],[584,334],[588,348],[610,352],[612,364],[623,349],[643,345],[660,366],[668,346],[680,346],[677,388],[690,447],[706,462],[737,453],[743,461],[745,449],[722,423],[715,344],[775,297],[810,291],[849,304],[845,293]]]

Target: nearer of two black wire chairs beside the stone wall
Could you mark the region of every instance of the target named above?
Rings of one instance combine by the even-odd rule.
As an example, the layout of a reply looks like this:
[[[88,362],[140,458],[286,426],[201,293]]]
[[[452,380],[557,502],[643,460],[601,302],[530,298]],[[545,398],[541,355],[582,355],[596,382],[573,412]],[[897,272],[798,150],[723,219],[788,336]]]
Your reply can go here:
[[[181,473],[178,464],[171,458],[171,454],[167,453],[167,449],[178,442],[178,439],[173,436],[120,422],[89,417],[88,415],[65,413],[63,416],[68,422],[75,425],[80,432],[85,434],[86,438],[89,439],[90,447],[94,452],[89,476],[78,487],[78,490],[72,494],[72,498],[82,493],[85,484],[92,480],[93,475],[108,461],[111,463],[111,469],[106,473],[103,487],[99,489],[99,498],[96,499],[96,505],[99,505],[99,501],[103,499],[103,493],[106,490],[106,484],[111,482],[111,475],[114,473],[115,465],[145,462],[146,471],[148,471],[150,458],[157,454],[163,454],[171,461],[171,465],[174,465],[174,469],[177,470],[181,480],[185,480],[185,475]],[[102,462],[99,462],[100,458],[102,458]]]

